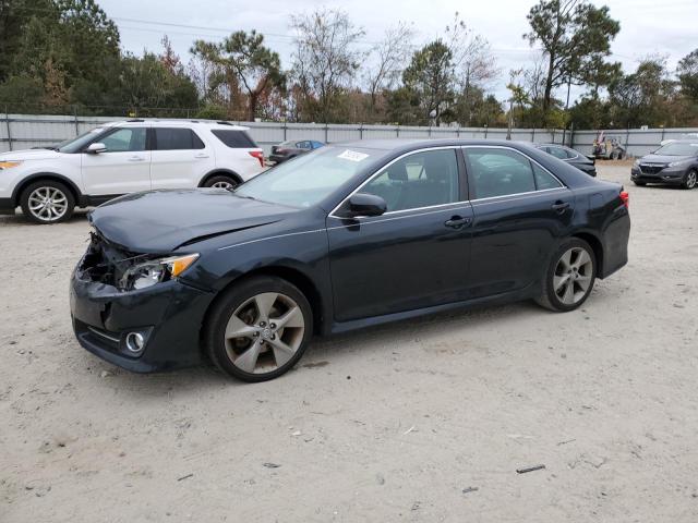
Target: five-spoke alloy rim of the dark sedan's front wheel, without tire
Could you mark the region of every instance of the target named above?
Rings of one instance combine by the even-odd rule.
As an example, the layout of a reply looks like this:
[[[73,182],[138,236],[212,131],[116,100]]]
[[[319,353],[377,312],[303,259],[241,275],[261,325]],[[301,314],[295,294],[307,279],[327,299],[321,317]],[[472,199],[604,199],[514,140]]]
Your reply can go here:
[[[250,374],[267,374],[288,363],[305,333],[301,307],[289,296],[264,292],[230,316],[225,343],[230,362]]]

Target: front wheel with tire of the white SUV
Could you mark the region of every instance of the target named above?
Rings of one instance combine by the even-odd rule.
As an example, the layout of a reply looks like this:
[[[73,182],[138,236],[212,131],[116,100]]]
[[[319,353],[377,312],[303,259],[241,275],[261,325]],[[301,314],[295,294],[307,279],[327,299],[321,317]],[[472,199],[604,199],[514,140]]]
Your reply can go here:
[[[65,184],[45,180],[29,184],[20,204],[24,216],[35,223],[59,223],[73,215],[75,198]]]

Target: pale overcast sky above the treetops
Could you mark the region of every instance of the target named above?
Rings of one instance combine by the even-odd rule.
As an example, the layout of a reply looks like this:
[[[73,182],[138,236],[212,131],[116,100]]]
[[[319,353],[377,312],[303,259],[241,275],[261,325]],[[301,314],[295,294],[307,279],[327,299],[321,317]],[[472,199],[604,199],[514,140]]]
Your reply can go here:
[[[159,51],[159,40],[167,34],[186,62],[194,39],[220,40],[233,31],[254,28],[264,33],[267,45],[281,56],[285,68],[291,63],[292,33],[288,24],[292,13],[310,12],[317,5],[341,8],[365,31],[361,46],[369,49],[382,38],[387,26],[399,21],[412,23],[417,44],[424,44],[442,35],[454,13],[459,11],[468,26],[486,37],[492,46],[502,76],[491,84],[490,90],[500,99],[508,94],[505,88],[508,71],[530,65],[538,53],[521,38],[529,29],[526,14],[533,3],[535,0],[324,3],[312,0],[99,0],[118,24],[124,50],[136,54],[144,48]],[[612,44],[612,51],[613,59],[622,62],[626,71],[633,71],[642,57],[654,53],[666,56],[673,69],[682,57],[698,47],[698,0],[592,0],[592,3],[609,5],[611,16],[621,22],[621,33]]]

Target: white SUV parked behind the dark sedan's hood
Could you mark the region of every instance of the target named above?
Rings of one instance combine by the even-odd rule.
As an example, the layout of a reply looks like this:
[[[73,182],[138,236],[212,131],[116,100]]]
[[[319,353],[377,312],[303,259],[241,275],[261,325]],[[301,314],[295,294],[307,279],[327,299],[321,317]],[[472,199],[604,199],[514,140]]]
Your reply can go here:
[[[232,187],[264,169],[246,127],[205,120],[129,120],[45,149],[0,155],[0,214],[64,221],[77,207],[157,188]]]

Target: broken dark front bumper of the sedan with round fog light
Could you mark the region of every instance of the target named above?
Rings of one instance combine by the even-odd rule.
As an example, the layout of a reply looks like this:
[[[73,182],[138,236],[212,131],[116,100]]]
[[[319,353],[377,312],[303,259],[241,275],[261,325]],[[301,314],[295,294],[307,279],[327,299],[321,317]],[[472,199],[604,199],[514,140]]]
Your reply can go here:
[[[80,344],[136,373],[200,363],[201,326],[214,294],[180,279],[120,290],[115,284],[118,252],[101,247],[93,236],[71,280],[71,316]]]

